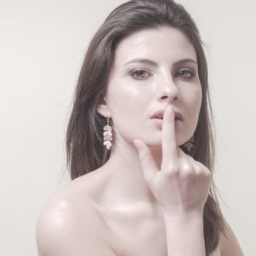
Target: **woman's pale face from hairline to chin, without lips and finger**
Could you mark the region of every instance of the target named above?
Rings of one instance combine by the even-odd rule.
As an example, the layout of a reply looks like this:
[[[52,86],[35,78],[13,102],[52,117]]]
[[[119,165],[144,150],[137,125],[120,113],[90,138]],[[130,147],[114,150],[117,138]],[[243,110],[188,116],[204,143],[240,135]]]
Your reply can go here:
[[[197,56],[181,31],[144,29],[120,42],[105,94],[105,116],[112,118],[115,143],[140,139],[159,146],[162,129],[151,116],[170,105],[183,116],[176,127],[181,146],[195,132],[201,101]]]

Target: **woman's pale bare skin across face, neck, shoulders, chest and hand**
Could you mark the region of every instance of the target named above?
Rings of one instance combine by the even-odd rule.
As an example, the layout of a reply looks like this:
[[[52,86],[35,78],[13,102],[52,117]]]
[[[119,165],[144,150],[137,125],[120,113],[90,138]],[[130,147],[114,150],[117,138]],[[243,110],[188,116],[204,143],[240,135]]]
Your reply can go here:
[[[134,59],[157,65],[127,64]],[[194,62],[177,64],[184,59]],[[128,75],[138,69],[142,79]],[[184,80],[189,70],[195,77]],[[211,172],[178,147],[195,131],[201,97],[195,50],[180,31],[148,29],[124,39],[97,108],[113,119],[111,157],[45,206],[37,222],[38,255],[205,255],[203,206]],[[159,129],[149,117],[162,108]],[[174,109],[184,116],[179,127]],[[243,255],[229,225],[227,236],[211,256]]]

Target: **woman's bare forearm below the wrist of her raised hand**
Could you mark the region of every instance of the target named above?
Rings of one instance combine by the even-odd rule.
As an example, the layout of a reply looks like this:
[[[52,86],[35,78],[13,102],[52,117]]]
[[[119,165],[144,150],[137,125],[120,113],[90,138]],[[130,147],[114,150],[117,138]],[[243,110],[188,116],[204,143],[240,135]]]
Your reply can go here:
[[[168,256],[205,256],[203,214],[173,217],[164,211]]]

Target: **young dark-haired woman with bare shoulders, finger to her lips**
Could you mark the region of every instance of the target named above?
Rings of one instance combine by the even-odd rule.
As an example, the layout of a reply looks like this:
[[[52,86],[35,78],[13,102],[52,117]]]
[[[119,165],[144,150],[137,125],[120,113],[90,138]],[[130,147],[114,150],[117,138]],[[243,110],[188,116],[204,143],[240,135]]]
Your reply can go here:
[[[170,0],[121,4],[91,40],[67,129],[72,181],[40,256],[241,256],[216,197],[206,57]]]

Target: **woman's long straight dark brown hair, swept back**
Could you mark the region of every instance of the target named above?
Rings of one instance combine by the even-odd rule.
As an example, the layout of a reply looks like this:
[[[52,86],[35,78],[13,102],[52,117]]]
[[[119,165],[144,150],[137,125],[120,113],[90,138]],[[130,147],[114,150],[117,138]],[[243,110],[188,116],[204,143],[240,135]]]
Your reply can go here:
[[[203,100],[192,153],[184,146],[181,148],[206,165],[211,173],[214,172],[214,121],[208,90],[208,68],[197,26],[187,10],[175,1],[132,0],[121,4],[108,15],[86,52],[67,127],[67,168],[72,179],[101,167],[111,154],[102,145],[102,130],[106,118],[97,112],[97,105],[105,95],[116,46],[135,31],[157,29],[160,26],[179,29],[187,36],[197,53]],[[220,233],[225,230],[213,179],[203,211],[203,222],[206,255],[209,255],[217,248]]]

